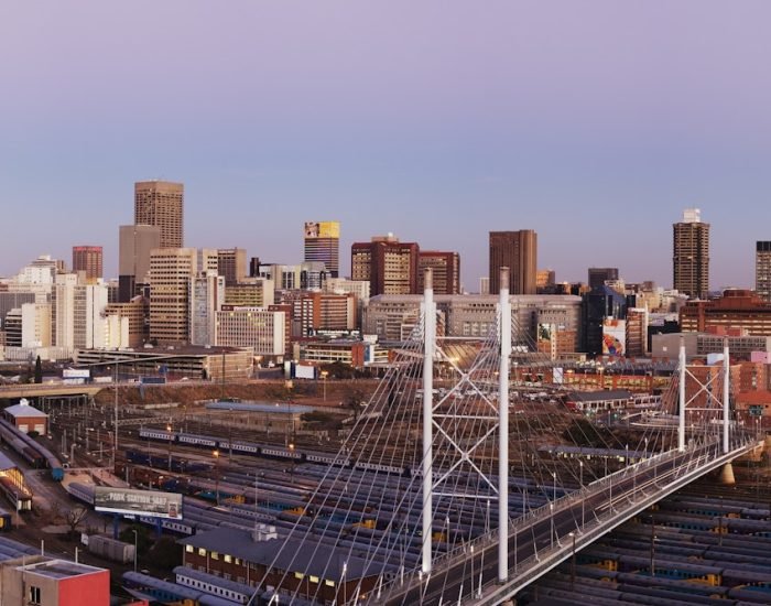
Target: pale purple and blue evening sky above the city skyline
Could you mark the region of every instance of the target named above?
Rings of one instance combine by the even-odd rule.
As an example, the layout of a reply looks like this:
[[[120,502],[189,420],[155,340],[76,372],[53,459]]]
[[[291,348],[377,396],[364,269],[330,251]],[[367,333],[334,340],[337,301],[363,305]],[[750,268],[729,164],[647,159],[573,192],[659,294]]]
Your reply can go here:
[[[458,250],[535,229],[539,267],[672,281],[672,223],[712,224],[712,285],[771,239],[771,3],[191,1],[0,4],[0,275],[105,247],[133,182],[185,184],[185,244],[302,260]]]

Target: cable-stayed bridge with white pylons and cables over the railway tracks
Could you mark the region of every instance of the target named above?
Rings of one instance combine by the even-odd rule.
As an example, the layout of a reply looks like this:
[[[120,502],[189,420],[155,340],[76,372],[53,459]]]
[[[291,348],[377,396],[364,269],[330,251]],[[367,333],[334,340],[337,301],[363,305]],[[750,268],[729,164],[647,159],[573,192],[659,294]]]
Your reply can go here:
[[[758,446],[734,418],[727,347],[721,364],[699,368],[681,349],[661,399],[620,422],[589,419],[562,405],[558,383],[518,380],[556,364],[512,316],[504,286],[496,323],[471,338],[445,337],[427,277],[412,338],[352,424],[339,465],[319,473],[256,595],[275,604],[504,603]]]

